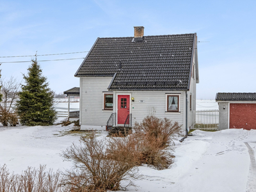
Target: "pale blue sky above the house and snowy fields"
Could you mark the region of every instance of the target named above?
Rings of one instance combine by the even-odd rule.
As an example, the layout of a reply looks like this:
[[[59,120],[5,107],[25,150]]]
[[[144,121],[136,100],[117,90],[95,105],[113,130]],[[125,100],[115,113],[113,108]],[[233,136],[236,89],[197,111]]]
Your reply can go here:
[[[217,92],[256,92],[256,1],[1,1],[0,56],[90,51],[97,37],[197,33],[200,83],[197,99]],[[86,52],[38,56],[84,58]],[[22,81],[28,58],[0,58],[1,75]],[[40,62],[56,93],[79,86],[83,60]]]

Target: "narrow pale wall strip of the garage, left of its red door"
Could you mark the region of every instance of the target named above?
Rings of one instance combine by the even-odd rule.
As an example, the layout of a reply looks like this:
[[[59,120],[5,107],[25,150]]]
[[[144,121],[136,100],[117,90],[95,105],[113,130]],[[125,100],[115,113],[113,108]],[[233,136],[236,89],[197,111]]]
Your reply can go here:
[[[225,109],[223,107],[225,106]],[[219,103],[219,130],[228,129],[228,102]]]

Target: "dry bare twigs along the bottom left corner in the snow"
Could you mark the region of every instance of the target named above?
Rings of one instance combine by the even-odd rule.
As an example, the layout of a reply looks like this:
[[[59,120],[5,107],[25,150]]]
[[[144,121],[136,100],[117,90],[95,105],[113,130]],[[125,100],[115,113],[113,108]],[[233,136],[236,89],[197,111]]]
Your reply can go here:
[[[21,175],[11,174],[6,165],[0,166],[0,191],[1,192],[65,192],[61,188],[60,172],[45,171],[45,165],[39,169],[28,167]]]

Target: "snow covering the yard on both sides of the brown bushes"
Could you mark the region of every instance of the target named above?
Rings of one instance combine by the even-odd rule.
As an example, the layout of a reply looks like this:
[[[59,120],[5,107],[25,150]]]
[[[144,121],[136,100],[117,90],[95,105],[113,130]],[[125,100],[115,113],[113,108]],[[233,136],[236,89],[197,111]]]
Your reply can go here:
[[[0,164],[15,173],[40,164],[54,170],[69,169],[72,163],[63,161],[61,151],[77,143],[81,135],[67,134],[70,129],[72,125],[1,127]],[[134,181],[138,191],[255,191],[256,170],[250,163],[253,158],[255,163],[256,131],[194,131],[193,135],[182,143],[175,142],[176,157],[171,168],[159,171],[140,166],[141,179]],[[100,136],[104,138],[106,132]],[[252,148],[253,157],[245,142]],[[128,189],[136,191],[132,186]]]

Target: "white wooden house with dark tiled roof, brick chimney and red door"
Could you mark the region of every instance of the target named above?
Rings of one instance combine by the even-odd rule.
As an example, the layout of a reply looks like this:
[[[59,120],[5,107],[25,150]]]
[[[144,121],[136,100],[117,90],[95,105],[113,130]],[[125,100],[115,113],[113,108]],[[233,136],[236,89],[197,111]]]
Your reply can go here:
[[[193,127],[196,40],[196,33],[144,36],[143,27],[131,37],[97,38],[75,74],[81,129],[105,130],[108,121],[132,126],[152,111],[184,130]]]

